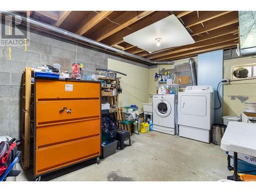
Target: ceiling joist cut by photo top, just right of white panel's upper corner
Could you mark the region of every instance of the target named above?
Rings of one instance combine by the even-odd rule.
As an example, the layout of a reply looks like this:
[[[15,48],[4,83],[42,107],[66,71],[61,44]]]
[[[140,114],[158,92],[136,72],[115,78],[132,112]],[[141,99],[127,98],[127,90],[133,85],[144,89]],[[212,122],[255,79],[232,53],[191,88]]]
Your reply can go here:
[[[192,27],[192,26],[201,24],[203,22],[206,22],[207,20],[214,19],[216,17],[225,15],[230,12],[232,12],[232,11],[200,11],[199,17],[187,16],[188,18],[184,17],[184,18],[182,18],[182,20],[185,23],[185,28],[188,28],[188,27]]]

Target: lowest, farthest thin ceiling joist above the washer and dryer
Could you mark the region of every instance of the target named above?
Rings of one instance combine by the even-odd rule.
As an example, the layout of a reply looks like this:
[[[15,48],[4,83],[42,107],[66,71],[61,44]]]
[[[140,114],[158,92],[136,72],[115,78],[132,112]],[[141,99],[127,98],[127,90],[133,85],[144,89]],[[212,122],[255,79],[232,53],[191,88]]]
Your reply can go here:
[[[223,49],[223,48],[227,48],[227,47],[235,47],[237,45],[236,42],[234,42],[234,40],[232,41],[228,41],[228,42],[222,42],[219,45],[214,45],[214,46],[208,46],[208,48],[203,48],[203,49],[199,49],[197,51],[193,51],[193,52],[186,52],[186,53],[182,53],[180,55],[172,55],[172,56],[168,56],[168,57],[164,57],[164,58],[160,58],[157,59],[156,61],[163,61],[163,60],[170,60],[170,59],[174,59],[174,58],[180,58],[180,57],[184,57],[187,55],[192,55],[192,54],[199,54],[199,53],[203,53],[203,52],[207,52],[207,51],[212,51],[212,50],[217,50],[217,49]]]

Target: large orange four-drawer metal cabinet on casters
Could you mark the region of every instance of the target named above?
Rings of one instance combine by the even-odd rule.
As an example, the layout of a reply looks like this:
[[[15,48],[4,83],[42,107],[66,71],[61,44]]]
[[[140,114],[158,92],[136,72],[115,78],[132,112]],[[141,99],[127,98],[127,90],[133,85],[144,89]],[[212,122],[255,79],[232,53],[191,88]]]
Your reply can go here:
[[[100,82],[35,78],[34,92],[34,177],[99,158]]]

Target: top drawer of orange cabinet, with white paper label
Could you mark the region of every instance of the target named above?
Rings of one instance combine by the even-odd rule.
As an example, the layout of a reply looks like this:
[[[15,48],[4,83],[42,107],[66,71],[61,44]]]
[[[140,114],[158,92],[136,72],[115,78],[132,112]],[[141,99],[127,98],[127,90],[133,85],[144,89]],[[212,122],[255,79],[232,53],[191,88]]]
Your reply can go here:
[[[71,85],[73,88],[68,89],[66,84]],[[88,98],[99,97],[100,83],[97,82],[74,82],[36,79],[36,102],[65,99],[84,100]]]

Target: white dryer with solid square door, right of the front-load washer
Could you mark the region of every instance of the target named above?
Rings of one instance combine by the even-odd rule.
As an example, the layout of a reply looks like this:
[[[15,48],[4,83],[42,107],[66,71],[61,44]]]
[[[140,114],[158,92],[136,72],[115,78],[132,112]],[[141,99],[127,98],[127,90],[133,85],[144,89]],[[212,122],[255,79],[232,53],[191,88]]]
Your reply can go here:
[[[188,86],[178,96],[179,135],[210,142],[214,120],[214,90],[212,86]]]

